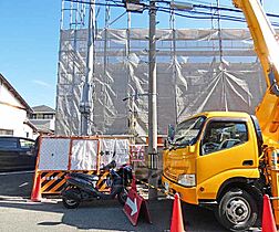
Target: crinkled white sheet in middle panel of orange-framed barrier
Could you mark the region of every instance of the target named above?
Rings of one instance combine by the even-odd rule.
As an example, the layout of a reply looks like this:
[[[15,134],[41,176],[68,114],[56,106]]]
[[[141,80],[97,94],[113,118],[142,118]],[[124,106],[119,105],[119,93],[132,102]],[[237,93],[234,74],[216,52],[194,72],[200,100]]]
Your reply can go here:
[[[73,139],[71,170],[96,170],[97,140]]]

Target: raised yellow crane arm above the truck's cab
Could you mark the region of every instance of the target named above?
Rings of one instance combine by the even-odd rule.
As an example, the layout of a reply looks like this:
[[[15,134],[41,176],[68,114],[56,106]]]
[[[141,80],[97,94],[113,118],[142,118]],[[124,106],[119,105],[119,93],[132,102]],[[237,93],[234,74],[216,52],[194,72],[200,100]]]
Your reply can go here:
[[[258,0],[234,0],[245,14],[255,51],[261,62],[267,91],[256,108],[265,143],[279,141],[279,43]]]

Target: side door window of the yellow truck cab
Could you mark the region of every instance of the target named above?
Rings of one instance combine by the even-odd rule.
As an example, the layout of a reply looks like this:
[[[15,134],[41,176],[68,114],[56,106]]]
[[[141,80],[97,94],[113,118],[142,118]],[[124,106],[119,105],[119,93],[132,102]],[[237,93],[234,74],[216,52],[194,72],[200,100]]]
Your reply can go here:
[[[244,122],[210,122],[203,141],[202,155],[235,147],[248,140]]]

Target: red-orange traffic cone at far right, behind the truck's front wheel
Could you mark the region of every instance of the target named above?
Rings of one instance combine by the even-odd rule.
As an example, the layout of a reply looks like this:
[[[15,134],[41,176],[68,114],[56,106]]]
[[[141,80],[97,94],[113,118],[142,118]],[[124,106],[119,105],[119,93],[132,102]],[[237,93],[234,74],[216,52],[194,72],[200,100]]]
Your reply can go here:
[[[262,232],[277,232],[272,208],[270,204],[269,197],[267,194],[264,196],[261,228]]]

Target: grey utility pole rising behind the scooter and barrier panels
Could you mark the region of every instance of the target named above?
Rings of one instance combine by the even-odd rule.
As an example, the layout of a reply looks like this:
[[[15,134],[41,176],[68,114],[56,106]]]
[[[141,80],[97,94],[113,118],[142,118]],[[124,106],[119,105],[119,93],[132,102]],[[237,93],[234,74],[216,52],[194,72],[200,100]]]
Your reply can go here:
[[[91,80],[94,75],[94,43],[93,43],[93,32],[94,32],[94,2],[95,0],[90,1],[89,7],[89,30],[87,30],[87,53],[86,53],[86,73],[84,85],[82,89],[82,98],[80,103],[80,113],[81,113],[81,135],[89,135],[89,123],[91,115],[91,102],[90,102],[90,91],[91,91]]]

